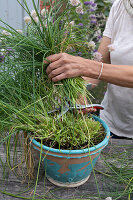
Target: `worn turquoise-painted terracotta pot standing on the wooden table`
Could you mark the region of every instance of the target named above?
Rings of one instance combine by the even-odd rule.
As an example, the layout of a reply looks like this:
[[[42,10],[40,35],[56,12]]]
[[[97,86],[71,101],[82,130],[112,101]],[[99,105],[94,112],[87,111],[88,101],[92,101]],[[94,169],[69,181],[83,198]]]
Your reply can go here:
[[[108,144],[110,130],[107,124],[99,117],[93,117],[99,121],[106,132],[104,140],[94,147],[81,150],[61,150],[42,146],[35,139],[31,141],[34,149],[42,151],[44,170],[47,179],[57,186],[77,187],[85,183],[95,166],[102,149]],[[39,155],[38,155],[39,157]]]

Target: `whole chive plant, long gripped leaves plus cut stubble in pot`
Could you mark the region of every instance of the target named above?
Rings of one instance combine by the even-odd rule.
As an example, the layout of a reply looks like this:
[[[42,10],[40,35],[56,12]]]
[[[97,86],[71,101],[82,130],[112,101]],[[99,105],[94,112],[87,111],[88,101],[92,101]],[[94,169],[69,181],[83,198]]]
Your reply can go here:
[[[80,146],[90,140],[91,136],[93,140],[99,129],[98,125],[95,125],[96,130],[92,134],[88,127],[94,126],[89,125],[88,118],[67,113],[58,119],[57,113],[51,116],[48,111],[61,106],[62,112],[66,102],[75,105],[79,95],[89,97],[85,82],[78,77],[55,84],[48,79],[47,66],[44,66],[43,61],[51,54],[67,52],[75,55],[81,49],[84,57],[89,57],[84,40],[88,30],[79,30],[69,24],[71,8],[68,9],[66,5],[64,12],[60,12],[61,1],[55,1],[54,7],[42,16],[38,5],[32,0],[36,19],[26,0],[23,2],[31,21],[22,33],[0,20],[4,24],[4,27],[0,27],[4,55],[3,62],[0,63],[1,135],[5,137],[7,132],[12,134],[22,130],[41,139],[50,138],[59,146]],[[61,145],[65,142],[66,145]],[[90,143],[93,142],[89,141]]]

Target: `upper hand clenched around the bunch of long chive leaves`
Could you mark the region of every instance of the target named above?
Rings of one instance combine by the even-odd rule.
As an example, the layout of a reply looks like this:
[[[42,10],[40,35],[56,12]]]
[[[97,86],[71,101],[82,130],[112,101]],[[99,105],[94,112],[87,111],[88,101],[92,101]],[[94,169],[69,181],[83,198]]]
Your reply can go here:
[[[54,54],[46,58],[44,64],[49,64],[47,74],[52,81],[79,77],[86,74],[88,59],[72,56],[67,53]]]

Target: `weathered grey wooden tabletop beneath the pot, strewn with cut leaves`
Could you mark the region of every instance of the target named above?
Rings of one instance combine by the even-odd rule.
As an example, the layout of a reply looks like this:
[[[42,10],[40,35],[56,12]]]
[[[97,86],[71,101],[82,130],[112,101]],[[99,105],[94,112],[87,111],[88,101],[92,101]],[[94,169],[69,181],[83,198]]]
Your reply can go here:
[[[130,180],[129,178],[128,181],[125,182],[128,176],[126,175],[127,170],[124,172],[125,174],[122,174],[122,170],[124,169],[125,165],[127,165],[126,169],[132,170],[131,173],[133,174],[132,147],[133,140],[111,139],[109,145],[103,150],[100,159],[96,163],[96,168],[94,170],[95,174],[92,172],[89,180],[82,186],[76,188],[66,189],[54,186],[45,178],[44,170],[41,170],[36,188],[35,199],[104,200],[108,196],[113,196],[113,200],[128,200],[129,197],[129,200],[132,200],[133,194],[126,194],[127,190],[129,189],[128,186],[126,186],[126,183]],[[21,151],[21,148],[17,149],[18,158],[21,157]],[[13,153],[11,153],[11,160],[12,156]],[[16,175],[13,173],[13,170],[9,169],[6,161],[5,149],[3,146],[0,147],[0,158],[0,199],[34,199],[32,198],[35,189],[34,184],[28,185],[26,182],[24,183],[20,177],[16,177]],[[118,167],[118,169],[115,167]],[[22,174],[22,169],[19,166],[17,166],[17,170],[14,169],[14,171],[18,172],[18,174],[20,171],[20,174]],[[98,173],[97,171],[108,174],[108,176]],[[130,190],[132,189],[133,188]],[[4,193],[10,193],[10,195]],[[18,196],[18,198],[11,196],[11,194]]]

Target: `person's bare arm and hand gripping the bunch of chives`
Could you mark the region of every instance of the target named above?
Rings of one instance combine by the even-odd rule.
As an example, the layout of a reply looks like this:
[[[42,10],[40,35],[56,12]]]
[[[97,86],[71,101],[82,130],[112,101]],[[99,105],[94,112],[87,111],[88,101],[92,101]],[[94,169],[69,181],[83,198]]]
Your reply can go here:
[[[100,80],[123,87],[133,88],[133,66],[108,64],[110,63],[110,59],[109,53],[107,53],[107,44],[110,44],[110,39],[104,37],[99,47],[99,52],[102,53],[104,62]],[[51,55],[47,57],[47,60],[50,62],[47,68],[47,74],[54,82],[78,76],[97,80],[101,71],[100,62],[66,53]],[[44,61],[44,63],[48,62]]]

